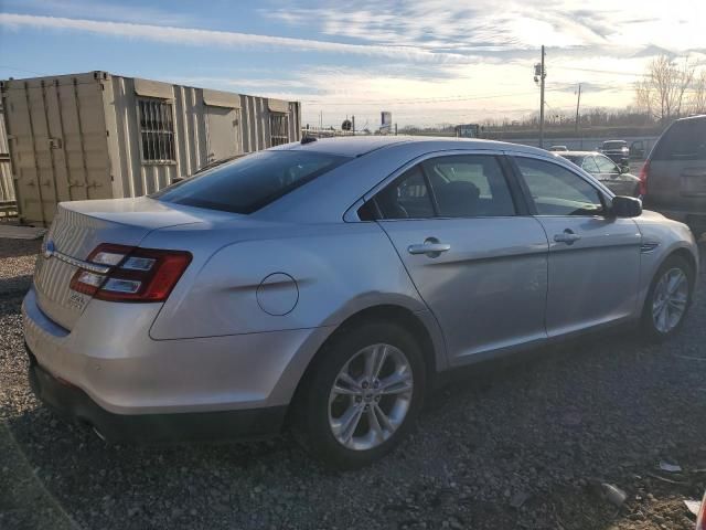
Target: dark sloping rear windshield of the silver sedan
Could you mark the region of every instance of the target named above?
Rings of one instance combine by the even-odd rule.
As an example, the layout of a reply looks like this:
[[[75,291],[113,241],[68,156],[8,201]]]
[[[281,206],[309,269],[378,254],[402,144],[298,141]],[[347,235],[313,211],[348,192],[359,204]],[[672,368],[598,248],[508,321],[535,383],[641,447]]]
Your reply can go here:
[[[151,195],[189,206],[253,213],[342,165],[347,157],[311,151],[260,151]]]

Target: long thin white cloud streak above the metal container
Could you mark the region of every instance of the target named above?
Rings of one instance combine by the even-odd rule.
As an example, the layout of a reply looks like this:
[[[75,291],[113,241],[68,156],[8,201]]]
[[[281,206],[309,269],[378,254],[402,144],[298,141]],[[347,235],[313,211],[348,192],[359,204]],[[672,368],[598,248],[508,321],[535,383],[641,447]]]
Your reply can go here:
[[[321,53],[343,53],[367,56],[403,59],[407,61],[453,62],[466,57],[456,53],[437,53],[413,46],[349,44],[340,42],[260,35],[231,31],[200,30],[168,25],[108,22],[60,17],[0,13],[0,25],[9,28],[35,28],[72,30],[99,35],[127,36],[170,44],[216,45],[226,47],[257,47]]]

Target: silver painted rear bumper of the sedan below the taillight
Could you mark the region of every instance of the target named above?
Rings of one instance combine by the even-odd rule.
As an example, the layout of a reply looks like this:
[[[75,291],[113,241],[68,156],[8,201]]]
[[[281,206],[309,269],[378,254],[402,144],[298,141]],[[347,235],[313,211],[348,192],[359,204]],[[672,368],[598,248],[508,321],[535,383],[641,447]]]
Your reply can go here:
[[[149,416],[287,406],[330,333],[312,328],[154,340],[149,327],[160,306],[92,300],[66,330],[42,311],[31,289],[22,305],[24,340],[44,371],[99,409]]]

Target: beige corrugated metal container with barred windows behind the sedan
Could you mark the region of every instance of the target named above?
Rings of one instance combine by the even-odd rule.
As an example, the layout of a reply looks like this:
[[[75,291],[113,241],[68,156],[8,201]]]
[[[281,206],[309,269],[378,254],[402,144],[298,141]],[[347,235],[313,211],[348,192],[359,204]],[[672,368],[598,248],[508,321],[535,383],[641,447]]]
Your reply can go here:
[[[4,81],[20,218],[139,197],[206,163],[300,139],[300,104],[105,72]]]

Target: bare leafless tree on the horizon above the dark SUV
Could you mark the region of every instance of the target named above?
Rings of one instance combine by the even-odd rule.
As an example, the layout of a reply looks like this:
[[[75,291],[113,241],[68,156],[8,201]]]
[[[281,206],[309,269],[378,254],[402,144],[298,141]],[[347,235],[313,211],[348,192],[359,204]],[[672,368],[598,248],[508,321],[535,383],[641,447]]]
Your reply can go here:
[[[678,117],[693,80],[694,66],[688,57],[680,67],[668,56],[660,55],[650,61],[643,78],[635,84],[635,105],[662,121]]]

